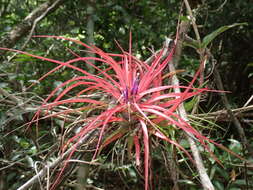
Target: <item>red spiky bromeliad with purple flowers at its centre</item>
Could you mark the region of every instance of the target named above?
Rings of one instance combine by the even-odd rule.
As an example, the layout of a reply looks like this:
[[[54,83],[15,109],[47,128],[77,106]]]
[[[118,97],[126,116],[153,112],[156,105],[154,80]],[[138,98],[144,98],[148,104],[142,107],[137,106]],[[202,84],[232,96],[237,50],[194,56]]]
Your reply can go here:
[[[129,151],[131,152],[132,148],[135,147],[136,165],[140,165],[140,155],[142,150],[144,151],[146,190],[148,189],[150,163],[149,139],[151,136],[177,146],[192,159],[191,155],[182,146],[176,141],[171,140],[167,135],[166,130],[168,128],[175,128],[191,135],[210,151],[207,142],[212,141],[201,135],[199,131],[185,122],[176,113],[178,106],[185,100],[207,90],[205,88],[198,89],[192,87],[199,72],[196,73],[189,86],[173,86],[164,82],[168,81],[169,75],[166,75],[164,70],[172,60],[174,46],[169,50],[167,48],[162,49],[158,54],[153,55],[153,61],[151,63],[147,63],[138,60],[132,55],[131,38],[128,52],[121,49],[121,54],[110,54],[97,47],[88,46],[74,39],[59,36],[36,37],[70,40],[83,45],[90,52],[96,54],[96,57],[80,57],[76,55],[77,57],[75,59],[62,62],[19,50],[11,50],[58,64],[57,67],[42,76],[39,80],[44,79],[62,67],[80,72],[80,76],[67,80],[55,88],[45,99],[31,121],[31,123],[37,122],[40,119],[42,110],[48,110],[48,116],[46,117],[55,117],[60,114],[67,115],[76,110],[83,110],[84,112],[91,109],[95,110],[95,115],[88,116],[83,120],[81,130],[66,142],[63,151],[66,151],[69,146],[76,146],[89,132],[98,130],[99,135],[93,157],[95,158],[102,148],[117,139],[128,136],[132,142],[132,147],[129,148]],[[1,49],[7,50],[6,48]],[[74,66],[74,63],[80,61],[93,67],[97,74],[89,73],[84,69]],[[94,61],[96,64],[92,64]],[[102,70],[99,65],[103,65],[106,68]],[[64,90],[57,94],[59,89],[62,88]],[[74,89],[77,88],[82,88],[82,90],[75,93],[71,98],[67,98],[66,95],[75,92]],[[174,88],[180,88],[182,93],[173,92]],[[94,93],[103,94],[105,98],[93,98],[91,94]],[[70,107],[73,103],[81,103],[79,105],[82,106],[73,109]],[[50,110],[61,105],[69,105],[69,110],[50,114]],[[141,142],[143,142],[143,147],[141,146]],[[74,151],[69,155],[68,159],[73,153]],[[57,180],[60,179],[66,164],[63,166]],[[52,186],[52,189],[56,183],[57,181]]]

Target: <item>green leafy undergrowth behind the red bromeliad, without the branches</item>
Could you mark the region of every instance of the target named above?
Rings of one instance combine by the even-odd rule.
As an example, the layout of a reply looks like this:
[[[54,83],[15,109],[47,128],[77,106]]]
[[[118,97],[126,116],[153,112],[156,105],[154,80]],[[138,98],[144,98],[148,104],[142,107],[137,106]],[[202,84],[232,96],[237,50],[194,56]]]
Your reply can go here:
[[[0,3],[0,42],[7,32],[21,23],[32,10],[43,2],[46,2],[46,0],[2,0]],[[227,93],[230,104],[235,108],[242,107],[251,97],[253,89],[253,46],[251,43],[253,36],[253,6],[250,6],[251,2],[249,0],[203,2],[205,3],[200,5],[199,8],[196,6],[194,10],[202,39],[201,48],[210,48],[214,58],[217,59],[217,67],[222,75],[225,89],[231,92]],[[96,1],[92,4],[95,8],[95,14],[92,15],[95,21],[95,45],[106,52],[119,53],[120,51],[114,42],[114,40],[117,40],[123,49],[127,50],[129,31],[131,30],[133,33],[133,52],[139,58],[145,60],[152,55],[153,51],[162,47],[165,36],[174,38],[181,7],[180,3],[180,1],[175,0]],[[64,1],[54,12],[37,23],[34,35],[59,35],[85,42],[88,17],[86,7],[85,1]],[[189,20],[185,15],[180,16],[179,19]],[[248,25],[246,26],[245,23],[248,23]],[[232,30],[228,30],[232,27]],[[192,29],[189,30],[188,35],[194,38]],[[17,41],[13,48],[21,49],[27,40],[26,37],[24,36],[20,41]],[[198,54],[195,51],[195,49],[199,49],[199,44],[194,42],[186,45],[192,48],[185,47],[179,64],[179,67],[185,70],[185,72],[179,73],[182,84],[191,81],[199,61]],[[84,56],[86,53],[80,46],[74,46],[71,42],[56,41],[50,38],[43,40],[31,38],[25,51],[61,61],[75,58],[76,56],[73,53],[80,56]],[[40,123],[39,128],[34,125],[32,131],[26,130],[23,125],[31,121],[34,112],[48,93],[63,81],[78,75],[78,72],[61,68],[55,72],[54,76],[38,81],[55,65],[26,55],[16,55],[10,59],[12,56],[13,54],[8,52],[0,61],[0,88],[10,95],[17,96],[24,104],[19,106],[9,96],[0,94],[0,189],[17,189],[29,177],[34,175],[35,168],[32,165],[36,161],[47,162],[54,160],[58,156],[58,149],[55,145],[59,142],[62,130],[78,127],[67,124],[61,118],[52,120],[47,118]],[[105,69],[105,65],[96,64],[99,68]],[[75,66],[82,66],[82,63],[75,63]],[[212,68],[210,62],[207,63],[207,67]],[[206,85],[209,88],[216,88],[212,75],[208,80],[210,82]],[[33,83],[34,85],[28,88]],[[59,89],[57,94],[61,93],[62,90],[64,89]],[[78,90],[80,89],[76,89],[76,91]],[[76,91],[73,91],[73,94]],[[205,95],[205,98],[202,99],[201,97],[199,112],[202,111],[208,115],[210,111],[223,109],[219,97],[210,93]],[[97,97],[97,99],[99,98]],[[195,103],[195,98],[186,102],[187,111],[191,112]],[[88,115],[98,114],[93,109],[84,110],[82,113]],[[75,119],[77,115],[66,118],[66,120]],[[191,118],[192,125],[203,134],[230,147],[231,150],[246,159],[250,159],[247,152],[244,154],[240,138],[234,130],[234,126],[230,126],[229,122],[225,120],[213,125],[203,118],[198,120],[194,115]],[[248,121],[251,120],[252,117],[250,116],[240,117],[246,137],[250,142],[252,142],[251,134],[253,131],[252,124]],[[221,127],[218,127],[218,125]],[[112,134],[117,134],[120,130],[115,130],[115,133]],[[166,135],[170,135],[172,140],[182,139],[179,140],[179,144],[189,150],[189,144],[183,136],[175,134],[173,129],[164,132]],[[108,136],[109,139],[110,137]],[[157,140],[152,139],[152,142],[157,142]],[[118,144],[115,143],[115,146],[118,146],[117,150],[122,150],[123,147]],[[253,146],[252,143],[251,146]],[[110,147],[113,148],[114,146],[110,145],[108,149],[102,151],[101,158],[110,155]],[[201,189],[194,166],[187,164],[188,158],[183,156],[180,150],[175,150],[175,147],[168,143],[159,144],[157,147],[152,145],[151,148],[155,149],[152,152],[152,157],[155,158],[154,170],[157,172],[155,172],[154,180],[157,180],[158,189],[173,188],[174,184],[170,176],[173,171],[179,171],[178,185],[180,189]],[[247,169],[239,160],[232,158],[228,153],[219,150],[217,147],[213,147],[213,150],[223,163],[224,168],[215,164],[210,156],[205,155],[205,152],[202,152],[202,155],[216,189],[253,188],[251,182],[253,173],[250,168]],[[90,179],[93,180],[92,184],[99,184],[99,187],[107,187],[108,189],[113,187],[116,189],[124,188],[131,184],[130,189],[142,189],[143,179],[140,170],[129,164],[127,157],[124,157],[125,159],[120,157],[124,162],[116,162],[119,159],[115,155],[127,155],[127,152],[118,151],[116,153],[111,159],[108,157],[104,165],[101,165],[101,170],[97,170],[97,166],[92,168],[94,171],[90,176]],[[165,158],[164,155],[167,155],[168,158]],[[176,169],[169,164],[164,166],[162,164],[164,159],[167,159],[166,163],[176,161]],[[107,167],[112,161],[114,161],[113,166]],[[40,168],[42,166],[37,169]],[[69,179],[74,181],[75,176],[70,175]],[[2,181],[4,181],[4,186],[2,186]],[[113,184],[113,187],[110,186],[110,183]],[[36,185],[38,187],[38,184]],[[46,184],[43,185],[46,186]],[[68,185],[66,182],[63,186],[66,189],[73,188]]]

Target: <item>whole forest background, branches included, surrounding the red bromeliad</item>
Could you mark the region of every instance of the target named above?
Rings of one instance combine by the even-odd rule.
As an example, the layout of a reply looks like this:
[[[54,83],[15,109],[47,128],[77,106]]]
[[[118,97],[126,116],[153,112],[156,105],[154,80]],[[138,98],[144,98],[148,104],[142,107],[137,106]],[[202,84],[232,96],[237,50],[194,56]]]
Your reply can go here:
[[[128,51],[131,32],[132,54],[145,61],[165,46],[166,39],[178,37],[174,55],[176,71],[166,70],[167,75],[177,73],[180,84],[187,85],[202,59],[208,56],[202,79],[198,80],[203,80],[201,87],[220,90],[220,93],[204,92],[184,103],[189,122],[201,134],[243,158],[210,143],[217,162],[197,143],[207,180],[215,189],[253,189],[252,5],[250,0],[1,0],[0,47],[64,62],[76,55],[96,55],[72,41],[34,36],[72,38],[104,52],[119,54],[119,45]],[[89,65],[75,65],[97,74]],[[27,128],[26,124],[49,93],[80,74],[61,68],[38,80],[56,66],[22,53],[0,51],[0,189],[17,189],[38,175],[46,164],[55,163],[61,157],[64,135],[73,136],[73,131],[66,132],[69,123],[82,117],[79,112],[68,118],[57,115]],[[228,92],[222,93],[224,90]],[[57,93],[62,91],[60,88]],[[53,111],[62,109],[65,107],[56,107]],[[167,135],[193,153],[183,131],[170,130]],[[135,157],[127,155],[129,145],[126,144],[131,143],[126,141],[129,138],[117,139],[94,163],[87,163],[91,159],[88,147],[94,146],[93,140],[87,140],[86,144],[91,145],[83,146],[82,151],[74,154],[73,164],[64,171],[57,188],[143,189],[144,166],[137,167]],[[150,141],[150,189],[205,188],[199,168],[182,150],[156,138]],[[145,148],[141,147],[140,151],[141,159],[146,158]],[[41,175],[40,180],[31,181],[29,187],[22,189],[52,188],[61,167],[55,163],[49,174]]]

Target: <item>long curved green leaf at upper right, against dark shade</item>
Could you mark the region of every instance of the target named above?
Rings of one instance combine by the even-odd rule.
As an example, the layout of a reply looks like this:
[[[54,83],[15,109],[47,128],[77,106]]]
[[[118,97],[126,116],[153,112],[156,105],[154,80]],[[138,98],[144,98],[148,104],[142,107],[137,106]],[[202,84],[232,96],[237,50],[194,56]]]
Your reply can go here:
[[[213,31],[211,34],[208,34],[207,36],[204,37],[201,47],[206,48],[210,44],[210,42],[212,42],[213,39],[216,38],[221,33],[225,32],[226,30],[233,28],[235,26],[242,26],[242,25],[248,25],[248,24],[245,22],[244,23],[235,23],[232,25],[222,26],[222,27],[218,28],[217,30]]]

